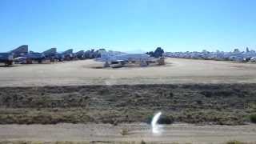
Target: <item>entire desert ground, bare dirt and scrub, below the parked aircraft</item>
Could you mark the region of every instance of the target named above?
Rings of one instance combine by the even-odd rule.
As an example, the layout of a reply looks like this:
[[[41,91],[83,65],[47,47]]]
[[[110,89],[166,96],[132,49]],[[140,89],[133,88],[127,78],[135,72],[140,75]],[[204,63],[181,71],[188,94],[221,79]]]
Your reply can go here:
[[[0,67],[0,143],[256,142],[256,64],[167,58]],[[162,111],[161,134],[150,121]],[[32,142],[32,143],[33,143]]]

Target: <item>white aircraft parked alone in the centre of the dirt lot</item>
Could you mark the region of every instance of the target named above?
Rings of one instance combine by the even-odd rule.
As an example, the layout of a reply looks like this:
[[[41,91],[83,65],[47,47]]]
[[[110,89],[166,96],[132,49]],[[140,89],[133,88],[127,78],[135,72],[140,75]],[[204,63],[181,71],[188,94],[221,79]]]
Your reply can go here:
[[[106,50],[99,51],[101,58],[96,58],[98,62],[105,62],[105,67],[110,65],[124,66],[127,63],[139,64],[140,66],[148,66],[152,62],[152,58],[147,54],[126,54],[117,51]]]

